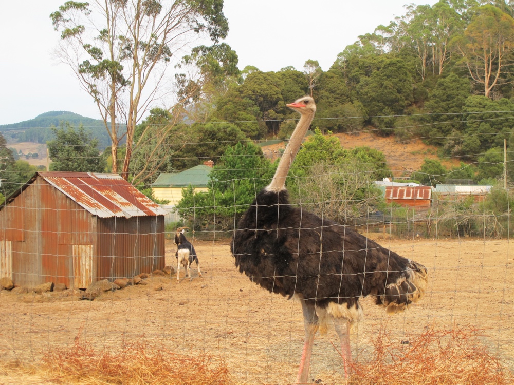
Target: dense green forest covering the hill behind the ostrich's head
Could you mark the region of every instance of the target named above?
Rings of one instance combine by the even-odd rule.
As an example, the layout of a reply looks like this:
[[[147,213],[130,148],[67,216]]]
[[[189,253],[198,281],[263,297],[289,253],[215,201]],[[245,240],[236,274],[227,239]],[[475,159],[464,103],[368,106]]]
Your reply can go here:
[[[327,71],[312,59],[276,72],[248,66],[191,109],[195,142],[210,138],[209,122],[223,121],[237,127],[234,139],[287,138],[296,115],[285,104],[312,94],[314,125],[323,132],[421,138],[466,162],[503,156],[514,126],[514,10],[510,2],[490,3],[407,6],[344,48]],[[198,146],[190,152],[209,156]]]

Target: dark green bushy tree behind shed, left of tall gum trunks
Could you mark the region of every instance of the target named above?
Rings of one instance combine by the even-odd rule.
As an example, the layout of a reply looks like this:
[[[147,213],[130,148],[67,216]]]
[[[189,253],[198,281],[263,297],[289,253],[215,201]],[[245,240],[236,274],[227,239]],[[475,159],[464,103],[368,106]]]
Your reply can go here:
[[[92,138],[82,126],[76,130],[69,123],[53,128],[56,139],[47,142],[52,171],[104,172],[105,158],[98,149],[98,139]]]

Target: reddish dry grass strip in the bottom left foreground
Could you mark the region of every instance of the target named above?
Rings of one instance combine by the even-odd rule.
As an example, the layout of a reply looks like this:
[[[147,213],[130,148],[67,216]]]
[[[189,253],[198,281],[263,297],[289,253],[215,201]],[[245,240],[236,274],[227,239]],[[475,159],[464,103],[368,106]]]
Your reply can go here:
[[[183,356],[140,342],[113,353],[96,350],[78,337],[73,347],[46,353],[40,365],[5,364],[0,376],[0,384],[233,384],[224,362],[215,363],[209,355]]]

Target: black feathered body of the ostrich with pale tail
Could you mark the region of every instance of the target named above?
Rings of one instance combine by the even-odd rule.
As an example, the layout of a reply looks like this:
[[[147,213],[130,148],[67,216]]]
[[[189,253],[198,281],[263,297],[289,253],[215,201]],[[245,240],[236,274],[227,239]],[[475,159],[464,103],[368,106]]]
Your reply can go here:
[[[395,312],[425,290],[427,269],[354,230],[289,204],[286,190],[263,189],[238,223],[235,265],[273,293],[359,309],[376,296]]]

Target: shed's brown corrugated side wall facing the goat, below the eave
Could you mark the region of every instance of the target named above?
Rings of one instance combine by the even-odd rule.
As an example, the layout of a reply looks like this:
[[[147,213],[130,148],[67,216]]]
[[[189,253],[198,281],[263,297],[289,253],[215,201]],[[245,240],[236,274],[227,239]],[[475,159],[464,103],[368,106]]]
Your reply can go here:
[[[164,267],[164,216],[98,218],[97,229],[97,279],[131,278]]]

